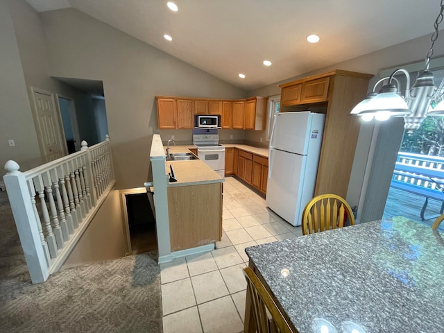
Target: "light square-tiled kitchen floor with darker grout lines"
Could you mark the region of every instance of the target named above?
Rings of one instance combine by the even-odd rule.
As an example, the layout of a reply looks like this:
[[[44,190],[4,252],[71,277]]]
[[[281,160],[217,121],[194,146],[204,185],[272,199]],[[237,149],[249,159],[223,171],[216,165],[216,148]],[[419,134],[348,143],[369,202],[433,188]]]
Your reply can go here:
[[[223,185],[223,235],[216,249],[160,266],[164,333],[244,330],[245,248],[302,235],[235,178]]]

